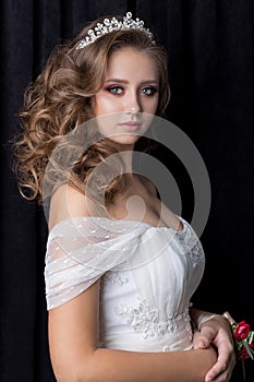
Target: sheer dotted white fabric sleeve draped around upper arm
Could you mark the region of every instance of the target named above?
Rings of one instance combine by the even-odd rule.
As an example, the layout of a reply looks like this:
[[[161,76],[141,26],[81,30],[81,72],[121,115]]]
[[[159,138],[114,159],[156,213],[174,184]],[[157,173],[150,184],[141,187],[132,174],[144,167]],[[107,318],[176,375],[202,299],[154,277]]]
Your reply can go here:
[[[144,227],[133,229],[89,217],[70,218],[55,226],[45,259],[47,309],[73,299],[107,271],[131,259],[143,231]]]

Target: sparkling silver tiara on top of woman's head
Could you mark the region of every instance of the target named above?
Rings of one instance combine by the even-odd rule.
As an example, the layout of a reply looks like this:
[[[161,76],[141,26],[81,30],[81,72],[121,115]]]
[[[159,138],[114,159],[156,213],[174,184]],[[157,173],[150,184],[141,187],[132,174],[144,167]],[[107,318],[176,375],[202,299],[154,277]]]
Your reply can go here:
[[[128,31],[128,29],[138,29],[147,34],[147,36],[153,40],[154,36],[149,29],[144,27],[144,21],[136,17],[132,19],[132,13],[128,12],[122,20],[105,19],[102,23],[97,23],[94,29],[89,29],[85,38],[81,39],[76,46],[76,49],[83,49],[89,44],[93,44],[97,38],[111,33],[112,31]]]

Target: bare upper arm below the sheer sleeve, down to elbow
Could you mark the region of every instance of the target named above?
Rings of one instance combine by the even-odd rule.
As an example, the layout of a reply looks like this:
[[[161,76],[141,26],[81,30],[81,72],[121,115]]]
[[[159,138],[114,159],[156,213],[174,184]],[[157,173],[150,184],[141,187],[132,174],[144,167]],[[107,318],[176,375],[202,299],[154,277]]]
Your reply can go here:
[[[99,280],[49,311],[50,357],[58,381],[72,381],[98,344]]]

